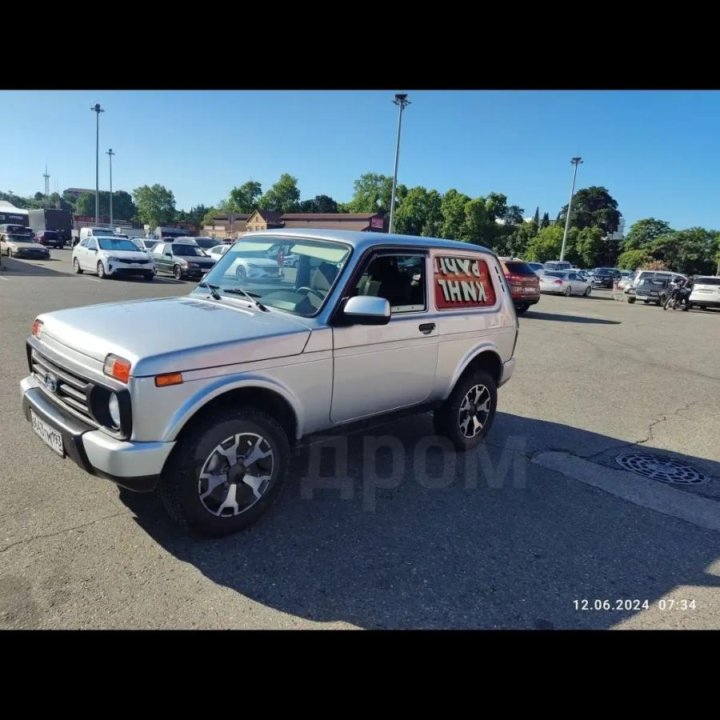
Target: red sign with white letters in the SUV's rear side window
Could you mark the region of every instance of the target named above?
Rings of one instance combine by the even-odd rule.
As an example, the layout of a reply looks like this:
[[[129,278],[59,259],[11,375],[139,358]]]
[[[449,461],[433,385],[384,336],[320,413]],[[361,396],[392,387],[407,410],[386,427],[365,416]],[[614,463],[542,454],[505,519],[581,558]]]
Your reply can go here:
[[[495,304],[495,288],[484,260],[441,255],[434,258],[433,270],[439,309]]]

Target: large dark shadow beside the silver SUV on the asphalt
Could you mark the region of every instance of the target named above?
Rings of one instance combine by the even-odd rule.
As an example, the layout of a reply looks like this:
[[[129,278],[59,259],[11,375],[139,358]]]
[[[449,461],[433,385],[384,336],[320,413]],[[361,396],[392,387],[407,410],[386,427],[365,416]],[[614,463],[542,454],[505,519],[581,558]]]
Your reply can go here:
[[[183,534],[154,495],[120,497],[213,583],[320,623],[605,629],[635,615],[633,601],[652,608],[678,586],[688,599],[720,587],[709,570],[717,532],[529,461],[566,450],[617,468],[621,441],[507,413],[473,453],[438,446],[432,433],[424,414],[297,450],[279,501],[223,539]],[[718,482],[720,463],[674,457]],[[594,608],[605,600],[631,606]]]

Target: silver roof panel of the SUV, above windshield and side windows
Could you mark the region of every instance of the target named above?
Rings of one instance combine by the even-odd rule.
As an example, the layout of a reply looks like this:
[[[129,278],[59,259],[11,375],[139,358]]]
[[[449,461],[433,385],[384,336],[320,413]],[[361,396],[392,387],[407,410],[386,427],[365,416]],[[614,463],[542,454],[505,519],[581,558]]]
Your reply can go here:
[[[286,237],[293,240],[335,240],[351,245],[359,251],[367,250],[375,245],[396,245],[400,247],[422,247],[437,248],[441,250],[459,250],[465,252],[485,252],[495,255],[489,248],[483,245],[474,245],[472,243],[463,243],[457,240],[444,240],[442,238],[420,237],[418,235],[395,235],[388,233],[374,232],[353,232],[350,230],[320,230],[312,228],[289,228],[287,230],[278,228],[276,230],[256,230],[254,232],[245,233],[240,240],[249,238],[270,237]]]

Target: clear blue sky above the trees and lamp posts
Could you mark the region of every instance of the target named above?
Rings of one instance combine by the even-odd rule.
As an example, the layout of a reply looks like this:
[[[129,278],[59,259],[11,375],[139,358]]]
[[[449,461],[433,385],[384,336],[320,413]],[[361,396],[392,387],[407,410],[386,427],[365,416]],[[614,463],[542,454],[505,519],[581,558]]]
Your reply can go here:
[[[402,91],[403,88],[398,88]],[[95,185],[112,147],[113,186],[160,183],[179,209],[234,185],[266,190],[283,172],[303,199],[352,196],[365,172],[392,174],[393,91],[3,91],[0,190],[29,195]],[[525,215],[554,217],[578,187],[604,185],[626,227],[644,217],[720,229],[720,92],[409,91],[398,181],[470,196],[496,191]],[[101,188],[108,158],[101,156]]]

